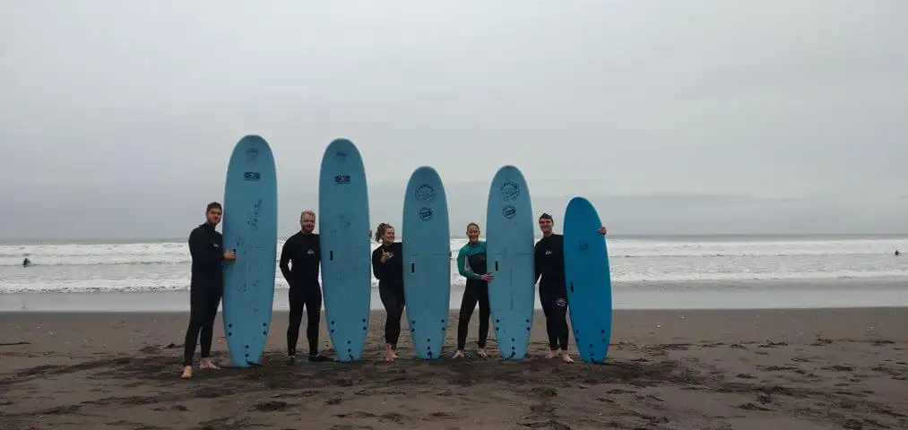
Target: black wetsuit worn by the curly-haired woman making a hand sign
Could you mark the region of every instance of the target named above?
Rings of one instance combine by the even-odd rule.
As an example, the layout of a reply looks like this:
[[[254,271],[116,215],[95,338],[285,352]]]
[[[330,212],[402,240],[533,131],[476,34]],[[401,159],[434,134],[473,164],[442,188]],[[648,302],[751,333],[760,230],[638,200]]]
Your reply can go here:
[[[381,262],[383,251],[390,252],[390,259]],[[394,242],[390,245],[381,245],[372,251],[372,273],[379,279],[379,296],[381,304],[385,306],[388,315],[385,320],[385,343],[397,349],[400,337],[400,318],[406,301],[403,296],[403,245]]]

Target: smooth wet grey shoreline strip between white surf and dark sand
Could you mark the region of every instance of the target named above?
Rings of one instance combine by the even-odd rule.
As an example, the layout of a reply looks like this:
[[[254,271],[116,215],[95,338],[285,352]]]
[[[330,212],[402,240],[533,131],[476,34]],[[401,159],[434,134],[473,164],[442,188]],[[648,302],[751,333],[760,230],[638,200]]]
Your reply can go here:
[[[287,289],[275,289],[274,312],[289,309]],[[381,310],[378,291],[371,291],[372,310]],[[622,282],[613,290],[616,310],[646,309],[784,309],[908,307],[908,281]],[[449,308],[460,308],[461,289],[452,286]],[[538,295],[536,308],[540,309]],[[188,311],[189,292],[74,292],[0,294],[0,312],[181,312]]]

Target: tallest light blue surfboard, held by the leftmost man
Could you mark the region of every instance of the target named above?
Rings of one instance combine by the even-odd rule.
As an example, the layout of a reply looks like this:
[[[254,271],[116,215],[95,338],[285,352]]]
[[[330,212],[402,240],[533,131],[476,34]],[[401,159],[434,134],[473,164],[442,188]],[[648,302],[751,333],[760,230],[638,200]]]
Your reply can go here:
[[[233,366],[259,364],[271,326],[278,247],[278,181],[271,147],[259,136],[233,147],[224,185],[223,322]]]

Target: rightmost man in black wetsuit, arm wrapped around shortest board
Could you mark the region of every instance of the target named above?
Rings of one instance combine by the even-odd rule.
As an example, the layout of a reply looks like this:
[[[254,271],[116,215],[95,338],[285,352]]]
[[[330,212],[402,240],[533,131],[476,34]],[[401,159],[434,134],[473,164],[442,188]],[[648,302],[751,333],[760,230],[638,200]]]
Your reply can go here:
[[[534,264],[536,281],[539,282],[539,302],[546,315],[548,332],[548,356],[558,357],[566,363],[574,360],[568,354],[568,287],[565,285],[564,236],[552,231],[554,221],[548,213],[539,216],[539,230],[542,239],[536,242]],[[599,227],[599,234],[606,234],[605,227]]]

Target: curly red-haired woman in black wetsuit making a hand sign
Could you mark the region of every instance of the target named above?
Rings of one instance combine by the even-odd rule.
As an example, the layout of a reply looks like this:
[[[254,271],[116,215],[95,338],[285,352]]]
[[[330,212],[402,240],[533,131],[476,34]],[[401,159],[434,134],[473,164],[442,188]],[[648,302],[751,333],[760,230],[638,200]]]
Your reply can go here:
[[[385,359],[397,358],[400,318],[406,306],[403,295],[403,244],[394,241],[394,228],[382,222],[375,231],[381,246],[372,251],[372,274],[379,279],[379,296],[385,306]]]

